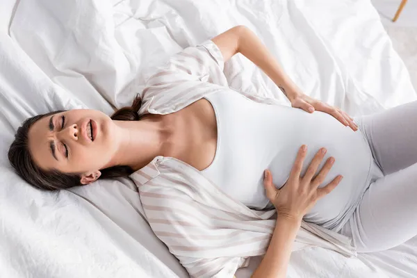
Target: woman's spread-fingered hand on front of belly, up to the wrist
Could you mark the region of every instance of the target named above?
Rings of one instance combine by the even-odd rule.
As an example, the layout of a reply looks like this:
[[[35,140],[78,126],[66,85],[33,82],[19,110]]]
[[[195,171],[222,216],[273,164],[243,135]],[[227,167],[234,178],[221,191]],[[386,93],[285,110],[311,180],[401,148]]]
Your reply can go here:
[[[304,146],[305,149],[303,149]],[[327,184],[327,186],[318,188],[325,180],[325,177],[334,163],[334,158],[332,161],[332,157],[329,157],[325,165],[323,165],[322,170],[320,170],[318,175],[313,179],[314,174],[316,174],[318,170],[318,166],[325,156],[325,152],[321,152],[323,149],[325,150],[325,148],[319,149],[318,153],[311,161],[309,168],[306,170],[304,177],[300,177],[307,152],[306,145],[300,147],[290,177],[288,177],[288,181],[280,189],[277,189],[272,184],[271,172],[265,170],[263,184],[265,186],[266,196],[270,202],[274,204],[279,217],[283,216],[301,222],[304,215],[313,208],[318,199],[332,192],[343,179],[341,175],[338,175],[332,182]]]

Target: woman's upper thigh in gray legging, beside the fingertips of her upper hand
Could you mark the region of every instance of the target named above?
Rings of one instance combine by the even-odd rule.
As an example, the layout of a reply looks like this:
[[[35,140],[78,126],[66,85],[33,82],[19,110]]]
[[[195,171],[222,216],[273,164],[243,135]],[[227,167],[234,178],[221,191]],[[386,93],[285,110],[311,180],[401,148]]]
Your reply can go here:
[[[384,175],[417,163],[417,101],[354,117]]]

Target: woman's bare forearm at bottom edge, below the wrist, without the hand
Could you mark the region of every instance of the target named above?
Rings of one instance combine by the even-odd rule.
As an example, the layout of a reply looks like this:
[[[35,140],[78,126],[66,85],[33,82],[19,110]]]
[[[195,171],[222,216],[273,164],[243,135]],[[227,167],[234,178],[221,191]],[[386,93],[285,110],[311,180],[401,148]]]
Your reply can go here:
[[[278,216],[268,250],[252,278],[285,278],[293,241],[301,226],[301,219]]]

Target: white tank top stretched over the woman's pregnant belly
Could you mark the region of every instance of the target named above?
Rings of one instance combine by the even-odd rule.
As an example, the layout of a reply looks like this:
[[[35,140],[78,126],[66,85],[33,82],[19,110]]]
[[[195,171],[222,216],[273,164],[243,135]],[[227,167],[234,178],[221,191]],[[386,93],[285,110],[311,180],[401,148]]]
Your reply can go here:
[[[359,202],[368,186],[371,152],[360,130],[352,131],[332,115],[300,108],[261,104],[231,90],[204,97],[215,111],[218,143],[213,163],[201,173],[227,195],[250,208],[270,208],[263,187],[263,170],[269,169],[275,186],[286,183],[301,145],[308,151],[302,176],[321,147],[336,161],[320,185],[338,174],[341,183],[314,206],[304,220],[337,221]],[[330,224],[330,223],[328,223]]]

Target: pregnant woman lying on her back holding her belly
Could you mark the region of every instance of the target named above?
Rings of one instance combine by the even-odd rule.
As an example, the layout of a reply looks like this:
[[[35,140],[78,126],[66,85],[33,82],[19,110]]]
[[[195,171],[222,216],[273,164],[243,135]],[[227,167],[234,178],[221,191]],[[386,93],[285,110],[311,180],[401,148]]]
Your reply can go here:
[[[224,62],[237,53],[292,107],[228,88]],[[352,118],[304,95],[243,26],[184,49],[146,80],[111,117],[26,120],[10,163],[42,190],[131,177],[154,233],[192,277],[233,277],[257,255],[253,277],[285,277],[304,222],[352,238],[357,252],[417,235],[416,101]]]

